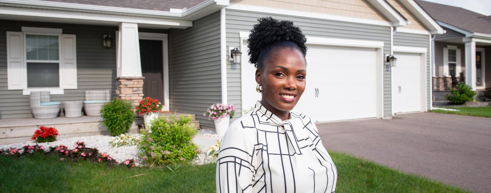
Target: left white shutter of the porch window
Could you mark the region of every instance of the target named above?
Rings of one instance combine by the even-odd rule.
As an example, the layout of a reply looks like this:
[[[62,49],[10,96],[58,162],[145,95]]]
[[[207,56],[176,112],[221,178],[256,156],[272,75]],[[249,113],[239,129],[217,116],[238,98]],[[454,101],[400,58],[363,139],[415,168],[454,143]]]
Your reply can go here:
[[[7,89],[26,89],[26,73],[24,34],[22,32],[7,31]]]

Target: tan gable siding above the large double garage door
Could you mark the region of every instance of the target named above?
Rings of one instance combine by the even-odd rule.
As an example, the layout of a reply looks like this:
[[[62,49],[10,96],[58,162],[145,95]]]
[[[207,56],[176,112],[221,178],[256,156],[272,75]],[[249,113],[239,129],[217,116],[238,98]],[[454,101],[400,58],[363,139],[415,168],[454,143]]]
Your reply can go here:
[[[231,3],[386,21],[364,0],[231,0]]]

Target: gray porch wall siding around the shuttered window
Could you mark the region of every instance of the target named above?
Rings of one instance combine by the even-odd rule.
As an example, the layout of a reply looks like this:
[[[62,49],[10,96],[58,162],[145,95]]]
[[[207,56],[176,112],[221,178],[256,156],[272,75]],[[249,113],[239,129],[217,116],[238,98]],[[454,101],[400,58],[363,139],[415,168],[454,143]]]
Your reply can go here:
[[[29,95],[22,95],[22,90],[7,90],[6,31],[21,31],[22,26],[61,28],[63,34],[77,35],[77,89],[51,95],[52,101],[82,101],[85,89],[110,89],[115,96],[115,43],[108,49],[102,39],[103,35],[114,37],[117,27],[6,20],[0,23],[0,119],[32,117]]]

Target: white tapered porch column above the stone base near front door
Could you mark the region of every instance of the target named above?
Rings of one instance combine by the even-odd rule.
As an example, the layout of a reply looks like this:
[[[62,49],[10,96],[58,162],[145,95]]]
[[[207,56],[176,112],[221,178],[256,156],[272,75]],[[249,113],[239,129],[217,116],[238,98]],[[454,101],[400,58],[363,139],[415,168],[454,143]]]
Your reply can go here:
[[[119,23],[117,39],[117,77],[141,77],[138,24]]]

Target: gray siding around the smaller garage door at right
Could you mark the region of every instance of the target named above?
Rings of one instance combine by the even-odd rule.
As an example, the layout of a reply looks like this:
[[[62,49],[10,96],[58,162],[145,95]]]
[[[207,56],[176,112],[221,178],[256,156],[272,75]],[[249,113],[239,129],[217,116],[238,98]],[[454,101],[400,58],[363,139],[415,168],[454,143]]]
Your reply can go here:
[[[428,109],[430,109],[432,103],[430,97],[430,93],[431,93],[430,35],[397,32],[394,34],[394,45],[427,48],[428,51],[426,52],[426,90],[427,90],[426,103]],[[397,55],[395,55],[395,57],[397,58]]]

